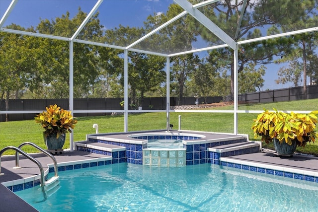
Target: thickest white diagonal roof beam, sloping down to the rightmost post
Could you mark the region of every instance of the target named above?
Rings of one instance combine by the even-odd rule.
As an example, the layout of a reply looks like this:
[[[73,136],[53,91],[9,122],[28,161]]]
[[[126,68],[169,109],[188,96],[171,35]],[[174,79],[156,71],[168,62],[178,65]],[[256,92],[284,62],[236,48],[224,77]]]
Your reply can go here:
[[[220,38],[226,44],[228,44],[232,49],[235,49],[237,47],[236,42],[227,33],[225,33],[220,27],[218,27],[215,23],[213,23],[207,16],[205,16],[197,8],[193,8],[192,4],[189,1],[174,0],[174,2],[179,4],[179,6],[181,6],[184,10],[186,10],[195,19],[197,19],[201,24],[203,24],[203,26],[209,29],[218,38]]]

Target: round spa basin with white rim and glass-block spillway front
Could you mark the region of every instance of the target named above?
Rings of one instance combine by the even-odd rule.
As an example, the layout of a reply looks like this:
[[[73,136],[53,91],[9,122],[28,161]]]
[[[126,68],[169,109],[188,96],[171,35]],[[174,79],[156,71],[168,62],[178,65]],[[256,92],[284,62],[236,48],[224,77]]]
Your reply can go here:
[[[186,145],[183,142],[205,138],[189,133],[143,133],[128,136],[146,140],[143,148],[143,165],[176,167],[186,165]]]

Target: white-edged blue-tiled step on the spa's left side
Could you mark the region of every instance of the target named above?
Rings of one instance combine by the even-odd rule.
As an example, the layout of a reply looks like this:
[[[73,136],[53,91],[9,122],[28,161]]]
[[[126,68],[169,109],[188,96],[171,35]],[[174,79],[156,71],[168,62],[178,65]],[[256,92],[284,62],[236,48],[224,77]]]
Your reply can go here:
[[[112,156],[112,163],[125,162],[124,146],[117,146],[94,141],[78,141],[75,142],[75,149],[78,151],[86,151],[95,154],[103,154]]]

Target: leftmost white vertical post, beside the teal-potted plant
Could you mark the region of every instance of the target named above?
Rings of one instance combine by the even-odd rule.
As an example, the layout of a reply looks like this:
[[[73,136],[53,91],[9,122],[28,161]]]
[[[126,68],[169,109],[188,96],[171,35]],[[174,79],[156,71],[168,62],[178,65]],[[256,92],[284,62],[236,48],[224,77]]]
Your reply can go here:
[[[70,41],[70,93],[69,93],[69,110],[74,111],[74,48],[73,41]],[[74,114],[73,114],[74,115]],[[73,129],[70,133],[70,151],[74,150],[74,135]]]

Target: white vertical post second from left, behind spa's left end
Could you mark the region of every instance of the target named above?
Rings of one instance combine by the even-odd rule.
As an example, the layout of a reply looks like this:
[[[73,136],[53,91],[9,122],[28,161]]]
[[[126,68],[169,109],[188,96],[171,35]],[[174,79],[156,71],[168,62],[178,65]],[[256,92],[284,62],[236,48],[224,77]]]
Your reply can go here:
[[[128,50],[124,51],[124,132],[128,132]]]

